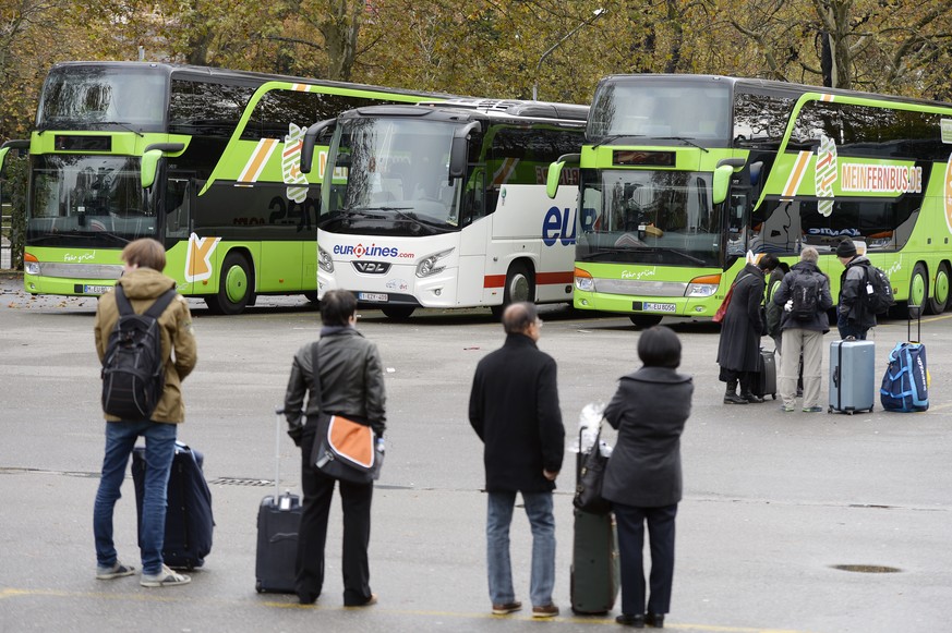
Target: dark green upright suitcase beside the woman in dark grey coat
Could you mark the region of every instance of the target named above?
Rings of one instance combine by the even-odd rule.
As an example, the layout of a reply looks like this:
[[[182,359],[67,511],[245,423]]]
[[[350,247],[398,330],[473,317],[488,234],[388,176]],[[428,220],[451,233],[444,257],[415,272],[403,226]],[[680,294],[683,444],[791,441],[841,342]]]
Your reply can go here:
[[[618,532],[611,512],[590,514],[575,509],[570,576],[575,613],[607,613],[615,606],[620,568]]]

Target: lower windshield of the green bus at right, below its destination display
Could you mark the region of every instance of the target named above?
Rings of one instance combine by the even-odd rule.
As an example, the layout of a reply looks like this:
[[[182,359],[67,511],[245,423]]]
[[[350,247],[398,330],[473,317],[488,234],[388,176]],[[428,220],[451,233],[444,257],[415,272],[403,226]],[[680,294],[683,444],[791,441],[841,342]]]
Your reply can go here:
[[[711,174],[581,170],[578,261],[718,266]]]

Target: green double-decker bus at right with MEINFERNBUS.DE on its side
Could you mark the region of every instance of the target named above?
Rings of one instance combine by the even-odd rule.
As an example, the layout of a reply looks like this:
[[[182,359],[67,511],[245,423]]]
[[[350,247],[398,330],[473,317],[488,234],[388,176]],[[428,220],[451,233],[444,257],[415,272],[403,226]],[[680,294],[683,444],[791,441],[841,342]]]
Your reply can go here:
[[[578,165],[575,306],[711,317],[748,254],[844,238],[926,314],[950,304],[952,105],[710,75],[604,77]]]

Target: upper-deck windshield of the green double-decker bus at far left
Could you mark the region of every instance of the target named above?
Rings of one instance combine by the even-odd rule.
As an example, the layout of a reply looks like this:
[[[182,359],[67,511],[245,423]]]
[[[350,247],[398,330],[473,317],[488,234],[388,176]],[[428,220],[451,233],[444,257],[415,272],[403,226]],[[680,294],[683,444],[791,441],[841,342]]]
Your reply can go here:
[[[161,70],[145,65],[53,68],[43,88],[37,130],[98,123],[160,131],[168,101],[167,83]]]

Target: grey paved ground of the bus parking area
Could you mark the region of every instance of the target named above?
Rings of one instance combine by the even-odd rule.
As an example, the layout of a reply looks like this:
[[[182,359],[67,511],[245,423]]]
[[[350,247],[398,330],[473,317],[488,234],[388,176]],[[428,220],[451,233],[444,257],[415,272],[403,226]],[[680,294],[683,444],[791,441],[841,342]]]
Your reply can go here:
[[[185,382],[180,438],[206,453],[215,546],[186,587],[141,588],[135,577],[93,579],[92,504],[101,459],[95,300],[31,297],[0,278],[0,632],[165,631],[600,631],[605,618],[569,606],[571,463],[556,497],[563,616],[487,613],[481,447],[466,419],[477,361],[502,331],[489,311],[424,311],[406,324],[362,311],[361,330],[387,367],[388,455],[374,500],[373,589],[379,605],[341,606],[340,516],[316,607],[254,592],[255,514],[274,479],[273,406],[291,355],[316,336],[303,299],[263,297],[239,317],[191,302],[200,365]],[[541,346],[559,363],[569,438],[578,412],[611,397],[634,369],[638,330],[627,319],[545,308]],[[937,632],[952,616],[952,322],[924,321],[932,407],[902,415],[781,414],[776,403],[725,406],[718,331],[670,321],[695,376],[684,438],[674,600],[666,628],[707,632]],[[905,338],[877,329],[877,357]],[[832,334],[828,339],[832,340]],[[826,363],[824,363],[826,370]],[[826,393],[826,388],[824,388]],[[569,439],[567,439],[567,445]],[[281,486],[298,489],[290,441]],[[131,482],[117,509],[120,552],[137,558]],[[528,594],[528,527],[514,526],[520,598]],[[841,571],[867,565],[895,573]]]

